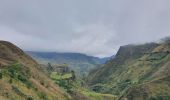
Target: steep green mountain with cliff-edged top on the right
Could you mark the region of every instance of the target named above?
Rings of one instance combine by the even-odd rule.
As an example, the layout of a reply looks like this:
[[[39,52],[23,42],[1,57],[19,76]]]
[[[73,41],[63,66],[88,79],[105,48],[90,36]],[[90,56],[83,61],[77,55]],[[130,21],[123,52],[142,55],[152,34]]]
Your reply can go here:
[[[121,46],[114,59],[88,76],[93,91],[119,100],[170,99],[170,43]]]

